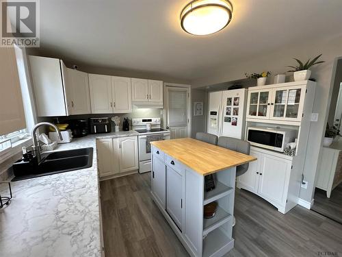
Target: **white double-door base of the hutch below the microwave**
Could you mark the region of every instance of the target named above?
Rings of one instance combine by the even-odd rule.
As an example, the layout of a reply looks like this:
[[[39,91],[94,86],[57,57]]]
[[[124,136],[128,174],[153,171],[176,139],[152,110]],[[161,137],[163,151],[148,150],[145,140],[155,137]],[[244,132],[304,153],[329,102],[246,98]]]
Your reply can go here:
[[[265,150],[251,150],[250,155],[258,159],[250,162],[248,171],[238,177],[237,187],[263,197],[280,212],[285,212],[292,161],[280,157],[280,154],[272,154],[266,153]]]

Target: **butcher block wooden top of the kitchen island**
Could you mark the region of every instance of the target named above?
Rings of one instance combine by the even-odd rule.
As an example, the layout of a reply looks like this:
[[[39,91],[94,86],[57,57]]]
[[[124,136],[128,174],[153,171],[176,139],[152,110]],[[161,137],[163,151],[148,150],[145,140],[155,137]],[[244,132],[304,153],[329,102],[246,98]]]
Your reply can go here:
[[[193,138],[160,140],[151,142],[151,144],[201,175],[209,175],[257,160],[253,156]]]

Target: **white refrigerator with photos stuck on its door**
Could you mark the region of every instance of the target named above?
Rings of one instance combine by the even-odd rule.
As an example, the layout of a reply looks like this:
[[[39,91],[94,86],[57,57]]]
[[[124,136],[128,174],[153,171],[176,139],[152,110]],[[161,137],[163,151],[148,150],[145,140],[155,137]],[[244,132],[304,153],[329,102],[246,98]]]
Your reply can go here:
[[[244,139],[246,100],[246,88],[209,93],[207,132]]]

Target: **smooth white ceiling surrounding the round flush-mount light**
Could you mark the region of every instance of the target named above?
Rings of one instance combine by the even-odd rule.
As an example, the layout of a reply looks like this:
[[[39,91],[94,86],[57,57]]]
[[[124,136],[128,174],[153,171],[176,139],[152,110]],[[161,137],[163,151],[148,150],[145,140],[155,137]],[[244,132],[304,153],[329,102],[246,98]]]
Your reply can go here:
[[[40,1],[39,52],[191,81],[256,53],[342,33],[339,0],[233,0],[225,29],[192,36],[179,23],[189,1]]]

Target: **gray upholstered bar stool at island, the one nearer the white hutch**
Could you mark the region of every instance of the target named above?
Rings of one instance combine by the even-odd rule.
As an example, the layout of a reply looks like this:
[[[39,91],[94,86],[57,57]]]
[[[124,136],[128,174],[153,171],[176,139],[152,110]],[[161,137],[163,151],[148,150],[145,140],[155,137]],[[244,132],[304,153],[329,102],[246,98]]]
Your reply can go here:
[[[220,136],[218,138],[218,146],[224,147],[233,151],[238,151],[242,154],[250,154],[250,143],[245,140],[237,139],[237,138],[230,138],[228,136]],[[248,170],[249,163],[242,164],[236,167],[236,176],[239,177],[240,175],[246,173]],[[233,226],[235,225],[235,217],[233,217]]]

